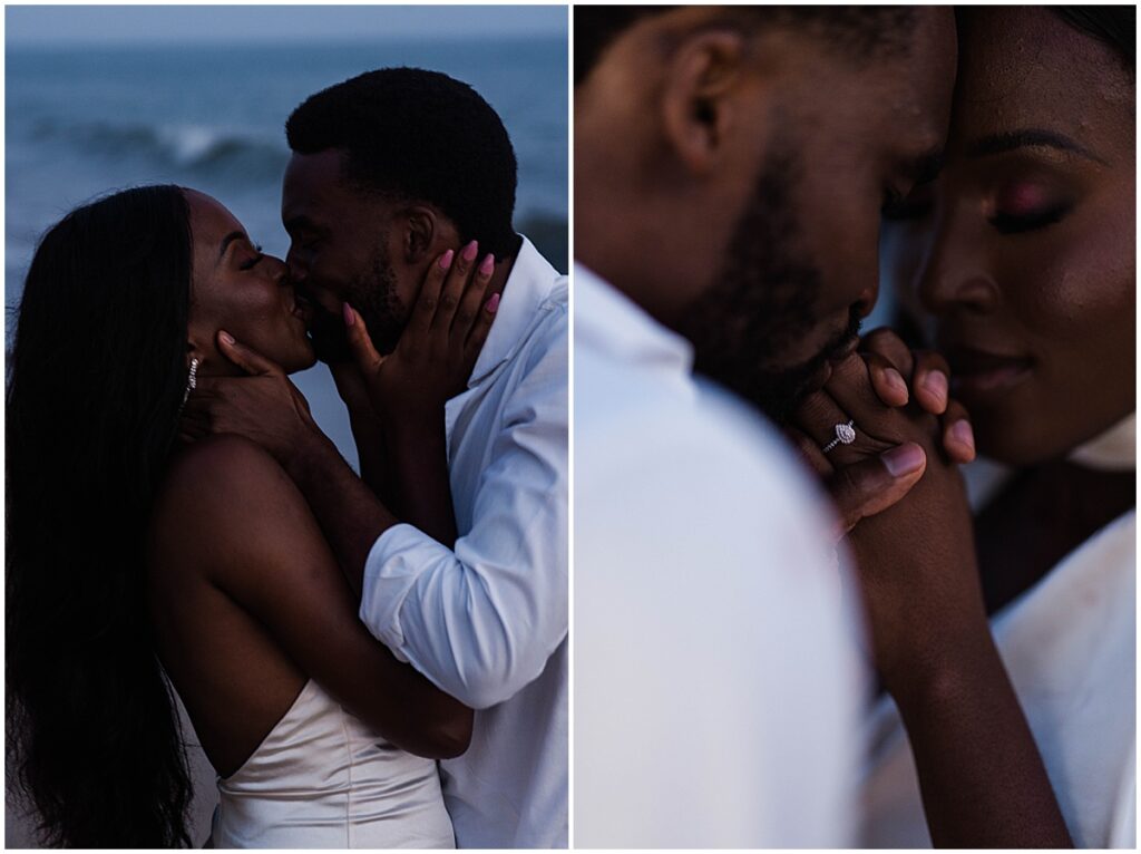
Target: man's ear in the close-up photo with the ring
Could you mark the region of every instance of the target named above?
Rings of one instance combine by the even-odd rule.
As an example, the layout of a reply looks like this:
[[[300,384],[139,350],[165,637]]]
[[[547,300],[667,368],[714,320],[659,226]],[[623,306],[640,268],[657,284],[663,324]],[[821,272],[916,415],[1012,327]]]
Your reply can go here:
[[[661,94],[666,142],[697,174],[707,172],[741,123],[736,97],[747,82],[747,42],[739,32],[696,32],[673,51]]]

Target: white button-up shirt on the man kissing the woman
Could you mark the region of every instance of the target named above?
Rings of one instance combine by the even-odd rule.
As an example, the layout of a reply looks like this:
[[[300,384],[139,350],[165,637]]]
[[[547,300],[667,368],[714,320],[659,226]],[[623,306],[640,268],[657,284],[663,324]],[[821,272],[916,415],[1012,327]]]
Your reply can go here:
[[[361,619],[477,709],[440,763],[466,848],[567,844],[567,282],[524,240],[468,389],[448,401],[460,538],[386,531]]]

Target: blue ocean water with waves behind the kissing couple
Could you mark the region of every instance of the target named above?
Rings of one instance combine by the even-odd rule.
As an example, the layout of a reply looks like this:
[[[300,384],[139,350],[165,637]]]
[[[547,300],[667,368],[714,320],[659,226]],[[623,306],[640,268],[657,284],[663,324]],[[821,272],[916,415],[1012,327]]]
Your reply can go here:
[[[13,309],[43,232],[107,191],[176,183],[213,195],[272,255],[289,160],[284,123],[309,95],[371,69],[413,65],[471,83],[519,161],[516,228],[567,268],[567,48],[559,37],[251,47],[11,48],[6,56],[5,303]],[[323,365],[294,380],[355,465]]]

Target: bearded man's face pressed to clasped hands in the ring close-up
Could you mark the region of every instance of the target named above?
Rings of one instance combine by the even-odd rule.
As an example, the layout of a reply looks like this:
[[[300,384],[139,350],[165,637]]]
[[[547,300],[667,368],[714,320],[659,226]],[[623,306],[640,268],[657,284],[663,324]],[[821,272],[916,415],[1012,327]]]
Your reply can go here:
[[[954,83],[949,13],[908,56],[853,66],[804,35],[770,102],[768,138],[712,283],[679,331],[697,369],[778,421],[856,344],[879,279],[883,203],[932,171]]]

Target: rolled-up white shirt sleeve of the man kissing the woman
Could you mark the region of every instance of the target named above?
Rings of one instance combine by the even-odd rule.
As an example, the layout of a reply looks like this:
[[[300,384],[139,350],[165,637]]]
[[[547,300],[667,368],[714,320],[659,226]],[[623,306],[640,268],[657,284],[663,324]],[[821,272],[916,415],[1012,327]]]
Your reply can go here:
[[[547,349],[509,393],[471,530],[451,550],[412,525],[365,563],[361,619],[472,708],[513,696],[567,635],[567,355]]]

